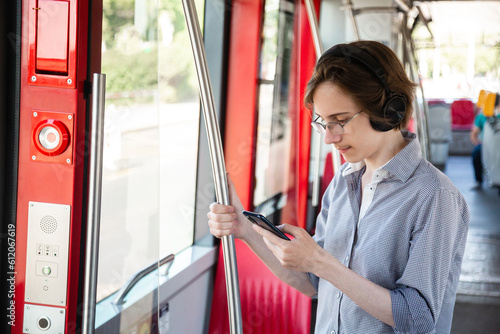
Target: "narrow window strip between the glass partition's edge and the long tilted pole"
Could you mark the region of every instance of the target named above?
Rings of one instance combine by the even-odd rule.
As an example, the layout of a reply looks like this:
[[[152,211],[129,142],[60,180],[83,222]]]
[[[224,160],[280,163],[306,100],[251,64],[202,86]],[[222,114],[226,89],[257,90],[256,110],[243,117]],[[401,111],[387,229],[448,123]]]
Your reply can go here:
[[[160,257],[192,245],[200,100],[182,3],[160,0]],[[195,1],[203,27],[203,1]]]

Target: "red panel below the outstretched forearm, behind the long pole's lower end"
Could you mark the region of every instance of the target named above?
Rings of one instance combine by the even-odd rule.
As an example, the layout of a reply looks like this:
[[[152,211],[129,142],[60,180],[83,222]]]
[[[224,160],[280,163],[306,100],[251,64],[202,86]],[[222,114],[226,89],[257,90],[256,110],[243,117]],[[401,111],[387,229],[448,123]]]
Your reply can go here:
[[[274,276],[242,241],[236,240],[235,248],[243,333],[309,333],[311,298]],[[222,251],[217,264],[213,301],[209,333],[229,333]]]

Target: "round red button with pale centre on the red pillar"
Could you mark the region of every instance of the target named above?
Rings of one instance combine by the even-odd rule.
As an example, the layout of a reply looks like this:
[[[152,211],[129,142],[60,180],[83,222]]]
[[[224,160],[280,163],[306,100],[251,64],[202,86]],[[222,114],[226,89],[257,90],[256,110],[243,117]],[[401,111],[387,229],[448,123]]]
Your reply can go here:
[[[48,156],[63,153],[70,141],[68,129],[64,123],[55,119],[47,119],[38,123],[33,136],[36,148]]]

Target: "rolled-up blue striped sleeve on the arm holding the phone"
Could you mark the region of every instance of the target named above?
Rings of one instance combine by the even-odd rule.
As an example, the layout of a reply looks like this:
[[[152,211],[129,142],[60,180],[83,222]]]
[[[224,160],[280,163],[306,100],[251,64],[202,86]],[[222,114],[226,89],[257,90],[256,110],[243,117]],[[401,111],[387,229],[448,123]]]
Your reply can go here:
[[[463,197],[440,188],[420,212],[408,263],[390,291],[396,333],[433,333],[446,287],[460,275],[453,268],[462,260],[455,257],[459,249],[463,253],[469,222]]]

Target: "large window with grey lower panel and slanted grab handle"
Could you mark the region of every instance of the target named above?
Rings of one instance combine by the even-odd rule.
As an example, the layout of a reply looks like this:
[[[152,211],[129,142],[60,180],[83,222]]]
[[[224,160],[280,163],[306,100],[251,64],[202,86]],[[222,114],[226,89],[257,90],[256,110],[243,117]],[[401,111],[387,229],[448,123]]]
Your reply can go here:
[[[210,264],[194,263],[193,252],[213,248],[211,239],[206,247],[196,242],[208,233],[200,227],[195,234],[196,194],[202,193],[199,210],[208,210],[213,188],[197,185],[200,101],[182,4],[103,5],[107,84],[96,331],[202,333],[211,273]],[[204,6],[197,1],[201,22]],[[190,269],[199,272],[179,282]]]

